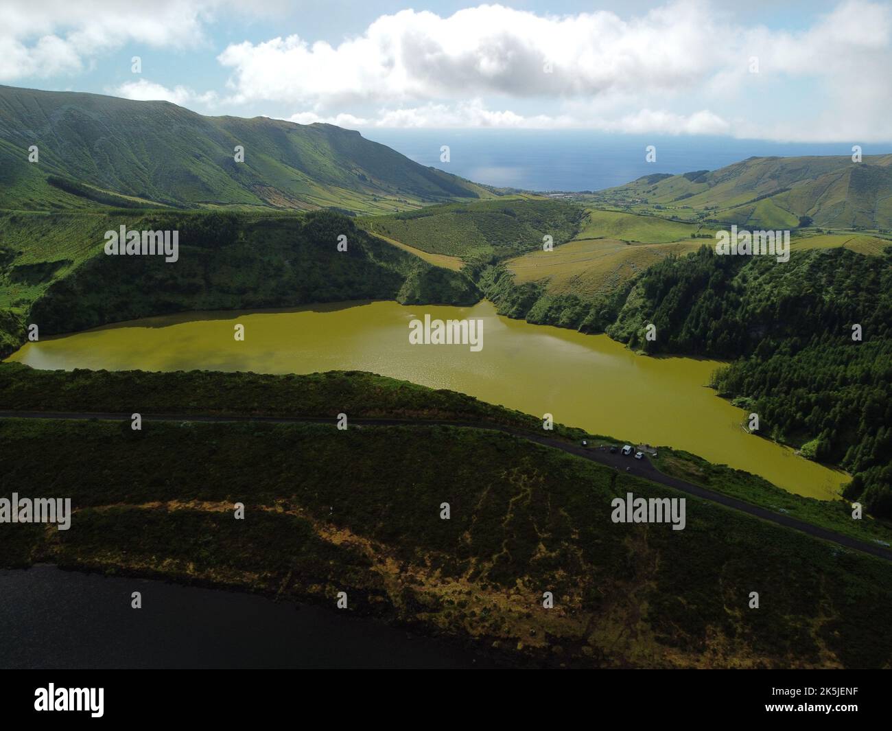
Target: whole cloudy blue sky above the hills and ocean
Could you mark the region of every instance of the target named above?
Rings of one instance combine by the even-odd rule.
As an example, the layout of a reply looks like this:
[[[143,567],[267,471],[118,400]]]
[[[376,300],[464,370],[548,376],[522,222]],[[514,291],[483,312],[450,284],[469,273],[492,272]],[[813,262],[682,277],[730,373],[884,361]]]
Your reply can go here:
[[[350,129],[892,140],[892,0],[0,8],[10,86]]]

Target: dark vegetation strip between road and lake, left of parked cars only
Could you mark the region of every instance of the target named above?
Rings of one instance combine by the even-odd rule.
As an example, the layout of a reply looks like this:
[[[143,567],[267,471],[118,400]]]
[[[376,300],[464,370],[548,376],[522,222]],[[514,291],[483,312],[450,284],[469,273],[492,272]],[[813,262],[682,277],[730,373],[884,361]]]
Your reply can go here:
[[[541,432],[541,419],[448,389],[363,371],[284,376],[208,370],[34,370],[0,363],[0,410],[438,419]],[[584,432],[555,426],[556,434]]]

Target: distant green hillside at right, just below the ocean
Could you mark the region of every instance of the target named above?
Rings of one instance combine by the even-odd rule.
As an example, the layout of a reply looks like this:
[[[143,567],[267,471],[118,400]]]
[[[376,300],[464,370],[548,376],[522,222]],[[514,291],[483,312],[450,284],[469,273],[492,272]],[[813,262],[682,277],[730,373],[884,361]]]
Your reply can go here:
[[[591,196],[630,211],[750,228],[892,229],[892,155],[751,157],[720,170],[651,175]]]

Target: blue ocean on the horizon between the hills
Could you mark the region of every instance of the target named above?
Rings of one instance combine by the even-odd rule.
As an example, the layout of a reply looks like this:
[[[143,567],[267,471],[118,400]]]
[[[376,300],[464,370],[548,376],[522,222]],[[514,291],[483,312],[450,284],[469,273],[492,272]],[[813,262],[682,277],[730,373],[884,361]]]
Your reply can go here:
[[[728,137],[644,137],[588,130],[361,129],[363,137],[415,162],[498,187],[536,191],[600,190],[655,172],[716,170],[753,156],[851,155],[851,143],[780,143]],[[441,162],[449,145],[450,161]],[[657,161],[645,148],[657,147]],[[862,144],[888,154],[890,143]]]

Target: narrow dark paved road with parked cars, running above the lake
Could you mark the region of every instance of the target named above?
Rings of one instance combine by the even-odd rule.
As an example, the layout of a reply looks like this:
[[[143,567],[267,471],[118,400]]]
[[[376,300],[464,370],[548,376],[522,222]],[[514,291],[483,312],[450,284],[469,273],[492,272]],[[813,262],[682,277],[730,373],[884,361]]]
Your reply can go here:
[[[116,413],[91,413],[91,412],[70,412],[70,411],[0,411],[0,419],[103,419],[103,420],[115,420],[115,421],[123,421],[129,420],[130,414],[116,414]],[[314,423],[314,424],[334,424],[334,419],[331,418],[314,418],[314,417],[271,417],[271,416],[196,416],[196,415],[187,415],[187,414],[143,414],[142,419],[144,421],[212,421],[212,422],[232,422],[232,421],[266,421],[274,424],[299,424],[299,423]],[[577,457],[582,457],[584,460],[591,460],[594,462],[599,462],[601,464],[606,464],[610,467],[614,467],[625,472],[625,468],[630,468],[628,474],[631,474],[638,478],[645,478],[650,480],[651,482],[656,482],[660,485],[665,485],[669,487],[673,487],[676,490],[681,490],[682,493],[687,493],[694,495],[695,497],[699,497],[703,500],[708,500],[712,503],[718,503],[720,505],[724,505],[725,507],[732,508],[737,511],[745,512],[748,515],[754,515],[756,518],[761,518],[764,520],[769,520],[772,523],[777,523],[780,526],[794,528],[795,530],[802,531],[803,533],[807,533],[809,536],[815,536],[818,538],[822,538],[825,541],[830,541],[831,543],[838,544],[844,546],[846,548],[852,548],[856,551],[863,551],[865,553],[871,553],[874,556],[879,556],[881,559],[886,559],[887,561],[892,561],[892,551],[888,548],[884,548],[880,544],[871,544],[865,541],[859,541],[857,538],[852,538],[850,536],[843,536],[839,533],[834,533],[831,530],[827,530],[826,528],[814,526],[811,523],[806,523],[804,520],[798,520],[796,518],[792,518],[789,515],[783,515],[782,513],[770,511],[767,508],[760,507],[758,505],[753,505],[752,503],[745,503],[742,500],[738,500],[737,498],[731,497],[722,493],[715,493],[712,490],[707,490],[706,487],[701,487],[698,485],[694,485],[690,482],[685,482],[684,480],[670,477],[669,475],[665,475],[660,472],[653,464],[648,461],[647,458],[643,460],[635,460],[632,457],[625,457],[623,454],[610,453],[608,450],[599,450],[597,447],[583,447],[581,444],[574,444],[572,442],[566,441],[564,439],[559,439],[554,436],[545,436],[544,434],[535,434],[533,432],[526,432],[522,429],[510,428],[501,426],[499,424],[485,424],[480,422],[464,422],[464,421],[442,421],[442,420],[425,420],[425,419],[416,419],[416,420],[407,420],[407,419],[351,419],[351,425],[353,426],[369,426],[369,427],[405,427],[405,426],[425,426],[425,427],[436,427],[436,426],[446,426],[446,427],[464,427],[464,428],[474,428],[474,429],[489,429],[492,431],[500,431],[506,434],[510,434],[512,436],[519,436],[523,439],[527,439],[531,442],[536,442],[537,444],[544,444],[545,446],[553,447],[554,449],[559,449],[562,452],[566,452],[569,454],[574,454]]]

